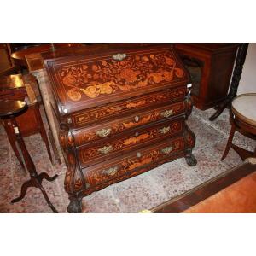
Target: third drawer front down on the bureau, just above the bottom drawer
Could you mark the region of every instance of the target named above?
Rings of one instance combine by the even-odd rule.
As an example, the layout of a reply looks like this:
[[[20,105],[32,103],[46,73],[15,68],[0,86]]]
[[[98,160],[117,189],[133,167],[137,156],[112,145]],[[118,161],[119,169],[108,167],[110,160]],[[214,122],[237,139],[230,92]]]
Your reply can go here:
[[[97,162],[113,158],[113,154],[119,153],[125,149],[135,150],[136,148],[145,146],[146,143],[154,143],[155,140],[164,139],[164,137],[173,137],[183,131],[183,118],[175,120],[167,120],[158,125],[137,129],[125,133],[113,140],[104,140],[96,143],[90,148],[79,148],[79,161],[82,168]]]

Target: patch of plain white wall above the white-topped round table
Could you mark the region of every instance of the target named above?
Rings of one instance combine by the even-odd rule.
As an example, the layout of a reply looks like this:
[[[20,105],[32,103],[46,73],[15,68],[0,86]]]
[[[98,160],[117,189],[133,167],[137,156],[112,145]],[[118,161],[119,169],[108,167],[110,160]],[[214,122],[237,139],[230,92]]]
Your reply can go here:
[[[248,46],[237,95],[247,92],[256,93],[256,43],[250,43]]]

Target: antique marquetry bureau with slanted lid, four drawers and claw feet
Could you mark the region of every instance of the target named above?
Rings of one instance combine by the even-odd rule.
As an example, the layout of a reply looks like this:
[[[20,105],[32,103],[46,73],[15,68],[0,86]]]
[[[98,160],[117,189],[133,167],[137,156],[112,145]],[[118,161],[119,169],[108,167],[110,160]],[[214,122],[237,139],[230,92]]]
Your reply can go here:
[[[196,160],[185,123],[189,73],[171,44],[73,49],[42,54],[60,124],[68,212],[81,200],[156,166]]]

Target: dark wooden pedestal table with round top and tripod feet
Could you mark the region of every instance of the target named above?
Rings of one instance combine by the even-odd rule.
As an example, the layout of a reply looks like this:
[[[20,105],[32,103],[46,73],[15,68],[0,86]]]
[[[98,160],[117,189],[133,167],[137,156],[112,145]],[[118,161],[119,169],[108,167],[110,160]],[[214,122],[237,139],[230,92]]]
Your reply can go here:
[[[49,201],[49,197],[46,194],[44,187],[42,186],[42,181],[44,178],[48,181],[54,181],[55,178],[58,177],[58,175],[55,175],[54,177],[49,177],[49,175],[46,172],[42,172],[38,174],[38,172],[36,171],[36,167],[32,161],[32,158],[26,149],[26,144],[24,143],[24,140],[20,134],[19,126],[17,125],[17,122],[15,120],[15,117],[20,113],[22,113],[23,111],[25,111],[26,108],[27,108],[26,102],[23,102],[23,101],[9,101],[9,100],[0,101],[0,118],[7,119],[9,124],[14,127],[15,135],[17,137],[17,142],[20,146],[20,150],[25,162],[26,170],[29,172],[31,177],[28,181],[22,184],[20,196],[15,198],[11,202],[15,203],[17,201],[20,201],[25,197],[26,190],[29,187],[35,187],[41,190],[49,207],[52,209],[53,212],[57,213],[57,210]]]

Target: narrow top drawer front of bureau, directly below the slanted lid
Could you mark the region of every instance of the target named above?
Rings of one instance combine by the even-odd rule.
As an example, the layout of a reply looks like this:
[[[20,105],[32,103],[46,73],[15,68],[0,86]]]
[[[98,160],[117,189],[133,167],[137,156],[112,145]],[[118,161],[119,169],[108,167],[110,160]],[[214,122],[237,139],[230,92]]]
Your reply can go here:
[[[147,96],[135,97],[129,101],[115,102],[102,108],[93,108],[85,110],[81,113],[74,113],[65,121],[69,126],[79,127],[84,124],[90,124],[100,119],[110,118],[118,114],[126,114],[129,111],[134,111],[140,108],[154,107],[156,104],[182,101],[187,94],[187,89],[177,88],[175,90],[166,90],[159,93],[151,93]]]

